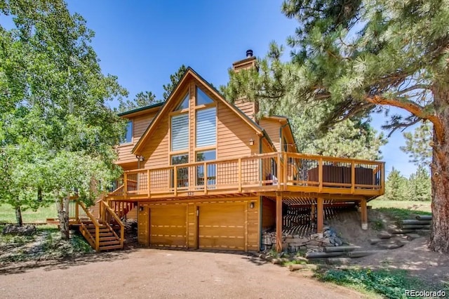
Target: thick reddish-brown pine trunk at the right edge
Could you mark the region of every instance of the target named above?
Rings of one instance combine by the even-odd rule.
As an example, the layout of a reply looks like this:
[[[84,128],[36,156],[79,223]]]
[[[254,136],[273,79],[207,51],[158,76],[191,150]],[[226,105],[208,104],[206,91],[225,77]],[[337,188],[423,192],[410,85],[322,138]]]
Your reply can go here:
[[[449,91],[445,86],[435,86],[435,113],[441,121],[436,131],[434,125],[434,151],[431,164],[432,178],[432,230],[429,248],[449,253]]]

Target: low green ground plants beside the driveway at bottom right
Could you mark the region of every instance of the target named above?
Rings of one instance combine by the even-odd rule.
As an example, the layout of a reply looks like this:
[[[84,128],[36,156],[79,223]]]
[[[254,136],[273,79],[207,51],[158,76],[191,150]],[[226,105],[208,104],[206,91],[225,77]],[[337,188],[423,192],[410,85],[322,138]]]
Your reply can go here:
[[[319,278],[343,286],[363,288],[386,298],[406,298],[405,290],[418,289],[417,286],[422,285],[405,270],[328,270]]]

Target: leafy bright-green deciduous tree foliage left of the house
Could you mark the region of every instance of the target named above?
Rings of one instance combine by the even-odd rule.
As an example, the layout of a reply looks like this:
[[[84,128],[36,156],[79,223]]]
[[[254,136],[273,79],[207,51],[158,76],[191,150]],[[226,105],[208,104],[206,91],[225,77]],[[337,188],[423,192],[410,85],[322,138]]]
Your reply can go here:
[[[102,74],[93,32],[64,1],[0,7],[14,24],[0,26],[0,200],[38,208],[76,188],[90,204],[120,172],[126,124],[107,102],[127,92]]]

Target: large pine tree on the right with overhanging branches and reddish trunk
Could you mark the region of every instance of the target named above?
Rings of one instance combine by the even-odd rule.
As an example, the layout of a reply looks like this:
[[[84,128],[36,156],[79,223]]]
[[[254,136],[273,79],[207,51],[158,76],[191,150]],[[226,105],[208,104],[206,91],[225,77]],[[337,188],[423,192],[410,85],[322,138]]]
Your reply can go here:
[[[298,20],[288,38],[292,59],[272,46],[260,74],[230,80],[233,98],[271,99],[286,93],[291,105],[326,102],[324,126],[370,112],[389,114],[391,133],[419,121],[433,125],[431,163],[433,251],[449,253],[449,4],[447,1],[287,0]],[[300,105],[299,105],[300,106]]]

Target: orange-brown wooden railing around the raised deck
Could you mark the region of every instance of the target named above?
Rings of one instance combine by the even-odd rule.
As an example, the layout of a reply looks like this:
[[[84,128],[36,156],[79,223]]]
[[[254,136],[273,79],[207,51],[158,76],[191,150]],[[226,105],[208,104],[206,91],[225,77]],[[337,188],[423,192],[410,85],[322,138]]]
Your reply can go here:
[[[126,171],[109,197],[269,191],[384,193],[384,162],[289,152]]]

